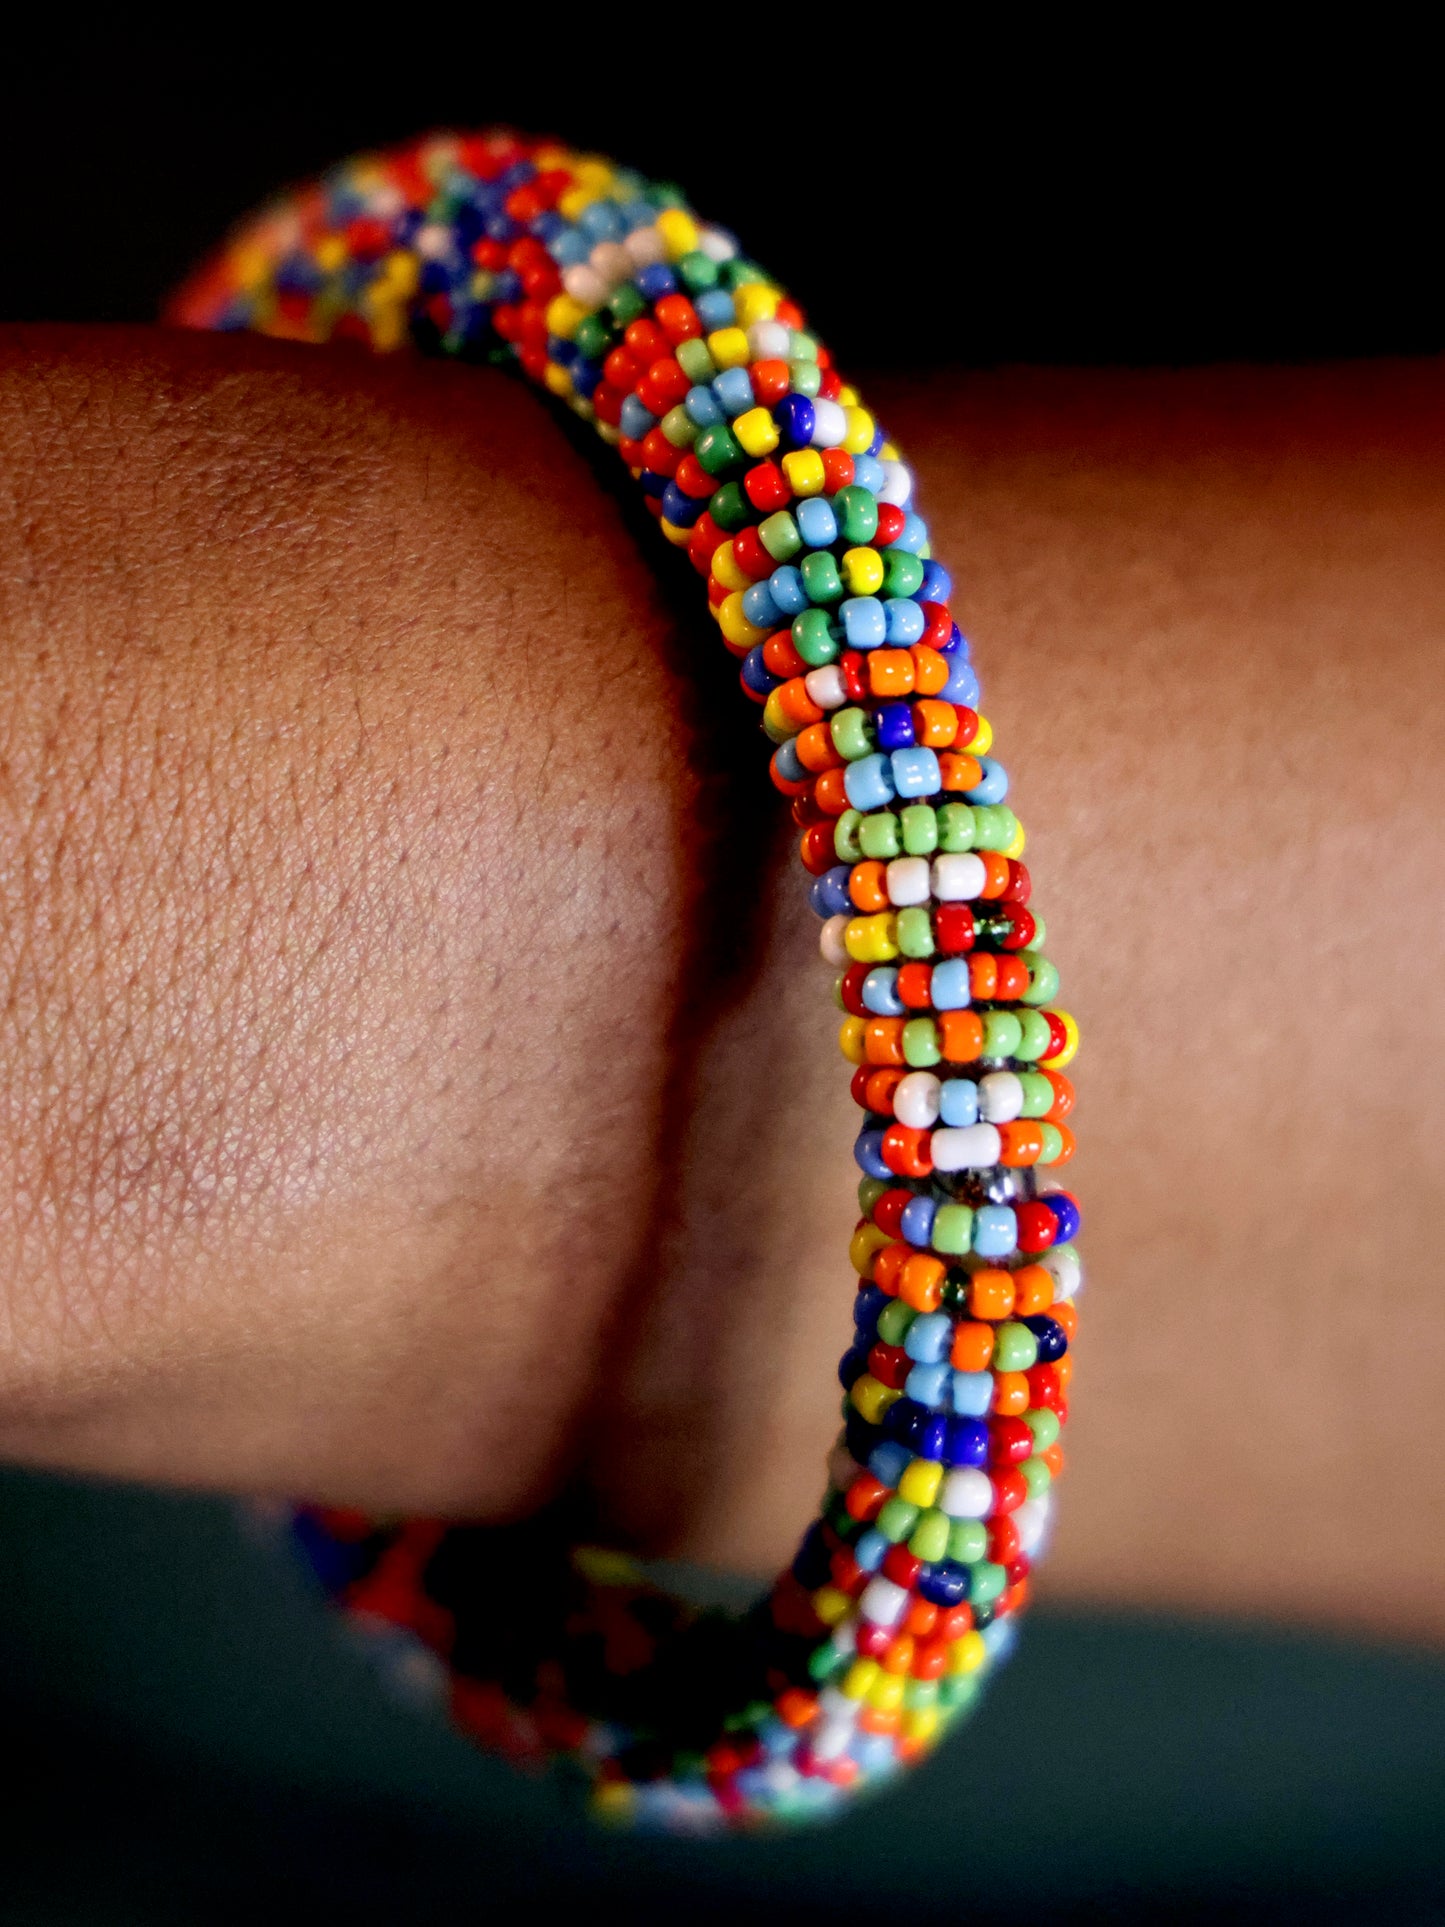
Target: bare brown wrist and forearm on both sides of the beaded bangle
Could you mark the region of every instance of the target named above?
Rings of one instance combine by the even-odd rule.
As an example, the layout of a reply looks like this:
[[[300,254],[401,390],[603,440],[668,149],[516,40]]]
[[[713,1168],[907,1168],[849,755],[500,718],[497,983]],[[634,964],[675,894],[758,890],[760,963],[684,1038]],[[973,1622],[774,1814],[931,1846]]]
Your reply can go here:
[[[1441,1634],[1445,376],[869,393],[1089,1044],[1044,1590]],[[786,1557],[855,1114],[696,586],[478,370],[12,331],[0,474],[0,1451]]]

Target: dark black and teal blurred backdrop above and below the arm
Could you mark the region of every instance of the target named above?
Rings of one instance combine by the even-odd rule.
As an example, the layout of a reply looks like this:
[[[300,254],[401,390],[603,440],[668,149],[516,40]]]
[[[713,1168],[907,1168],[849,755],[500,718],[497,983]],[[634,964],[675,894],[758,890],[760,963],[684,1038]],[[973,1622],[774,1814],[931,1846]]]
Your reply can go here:
[[[509,119],[686,183],[854,366],[1443,345],[1433,62],[1358,23],[1268,50],[1214,13],[1117,44],[902,8],[341,19],[12,37],[0,320],[148,320],[277,183]],[[220,1503],[12,1474],[0,1572],[4,1923],[1445,1919],[1426,1653],[1044,1607],[907,1788],[688,1846],[588,1831],[387,1705]]]

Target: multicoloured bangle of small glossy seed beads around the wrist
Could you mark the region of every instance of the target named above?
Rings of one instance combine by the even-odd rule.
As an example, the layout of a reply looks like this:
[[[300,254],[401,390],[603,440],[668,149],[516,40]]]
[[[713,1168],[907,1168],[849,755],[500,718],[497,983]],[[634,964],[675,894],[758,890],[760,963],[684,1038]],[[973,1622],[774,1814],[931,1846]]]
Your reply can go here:
[[[927,1752],[1012,1642],[1079,1285],[1079,1210],[1038,1177],[1073,1152],[1077,1031],[909,470],[732,235],[672,187],[511,133],[345,162],[243,227],[171,320],[514,358],[618,451],[742,659],[863,1110],[819,1517],[742,1617],[555,1520],[306,1507],[295,1532],[466,1730],[574,1759],[607,1813],[828,1811]]]

